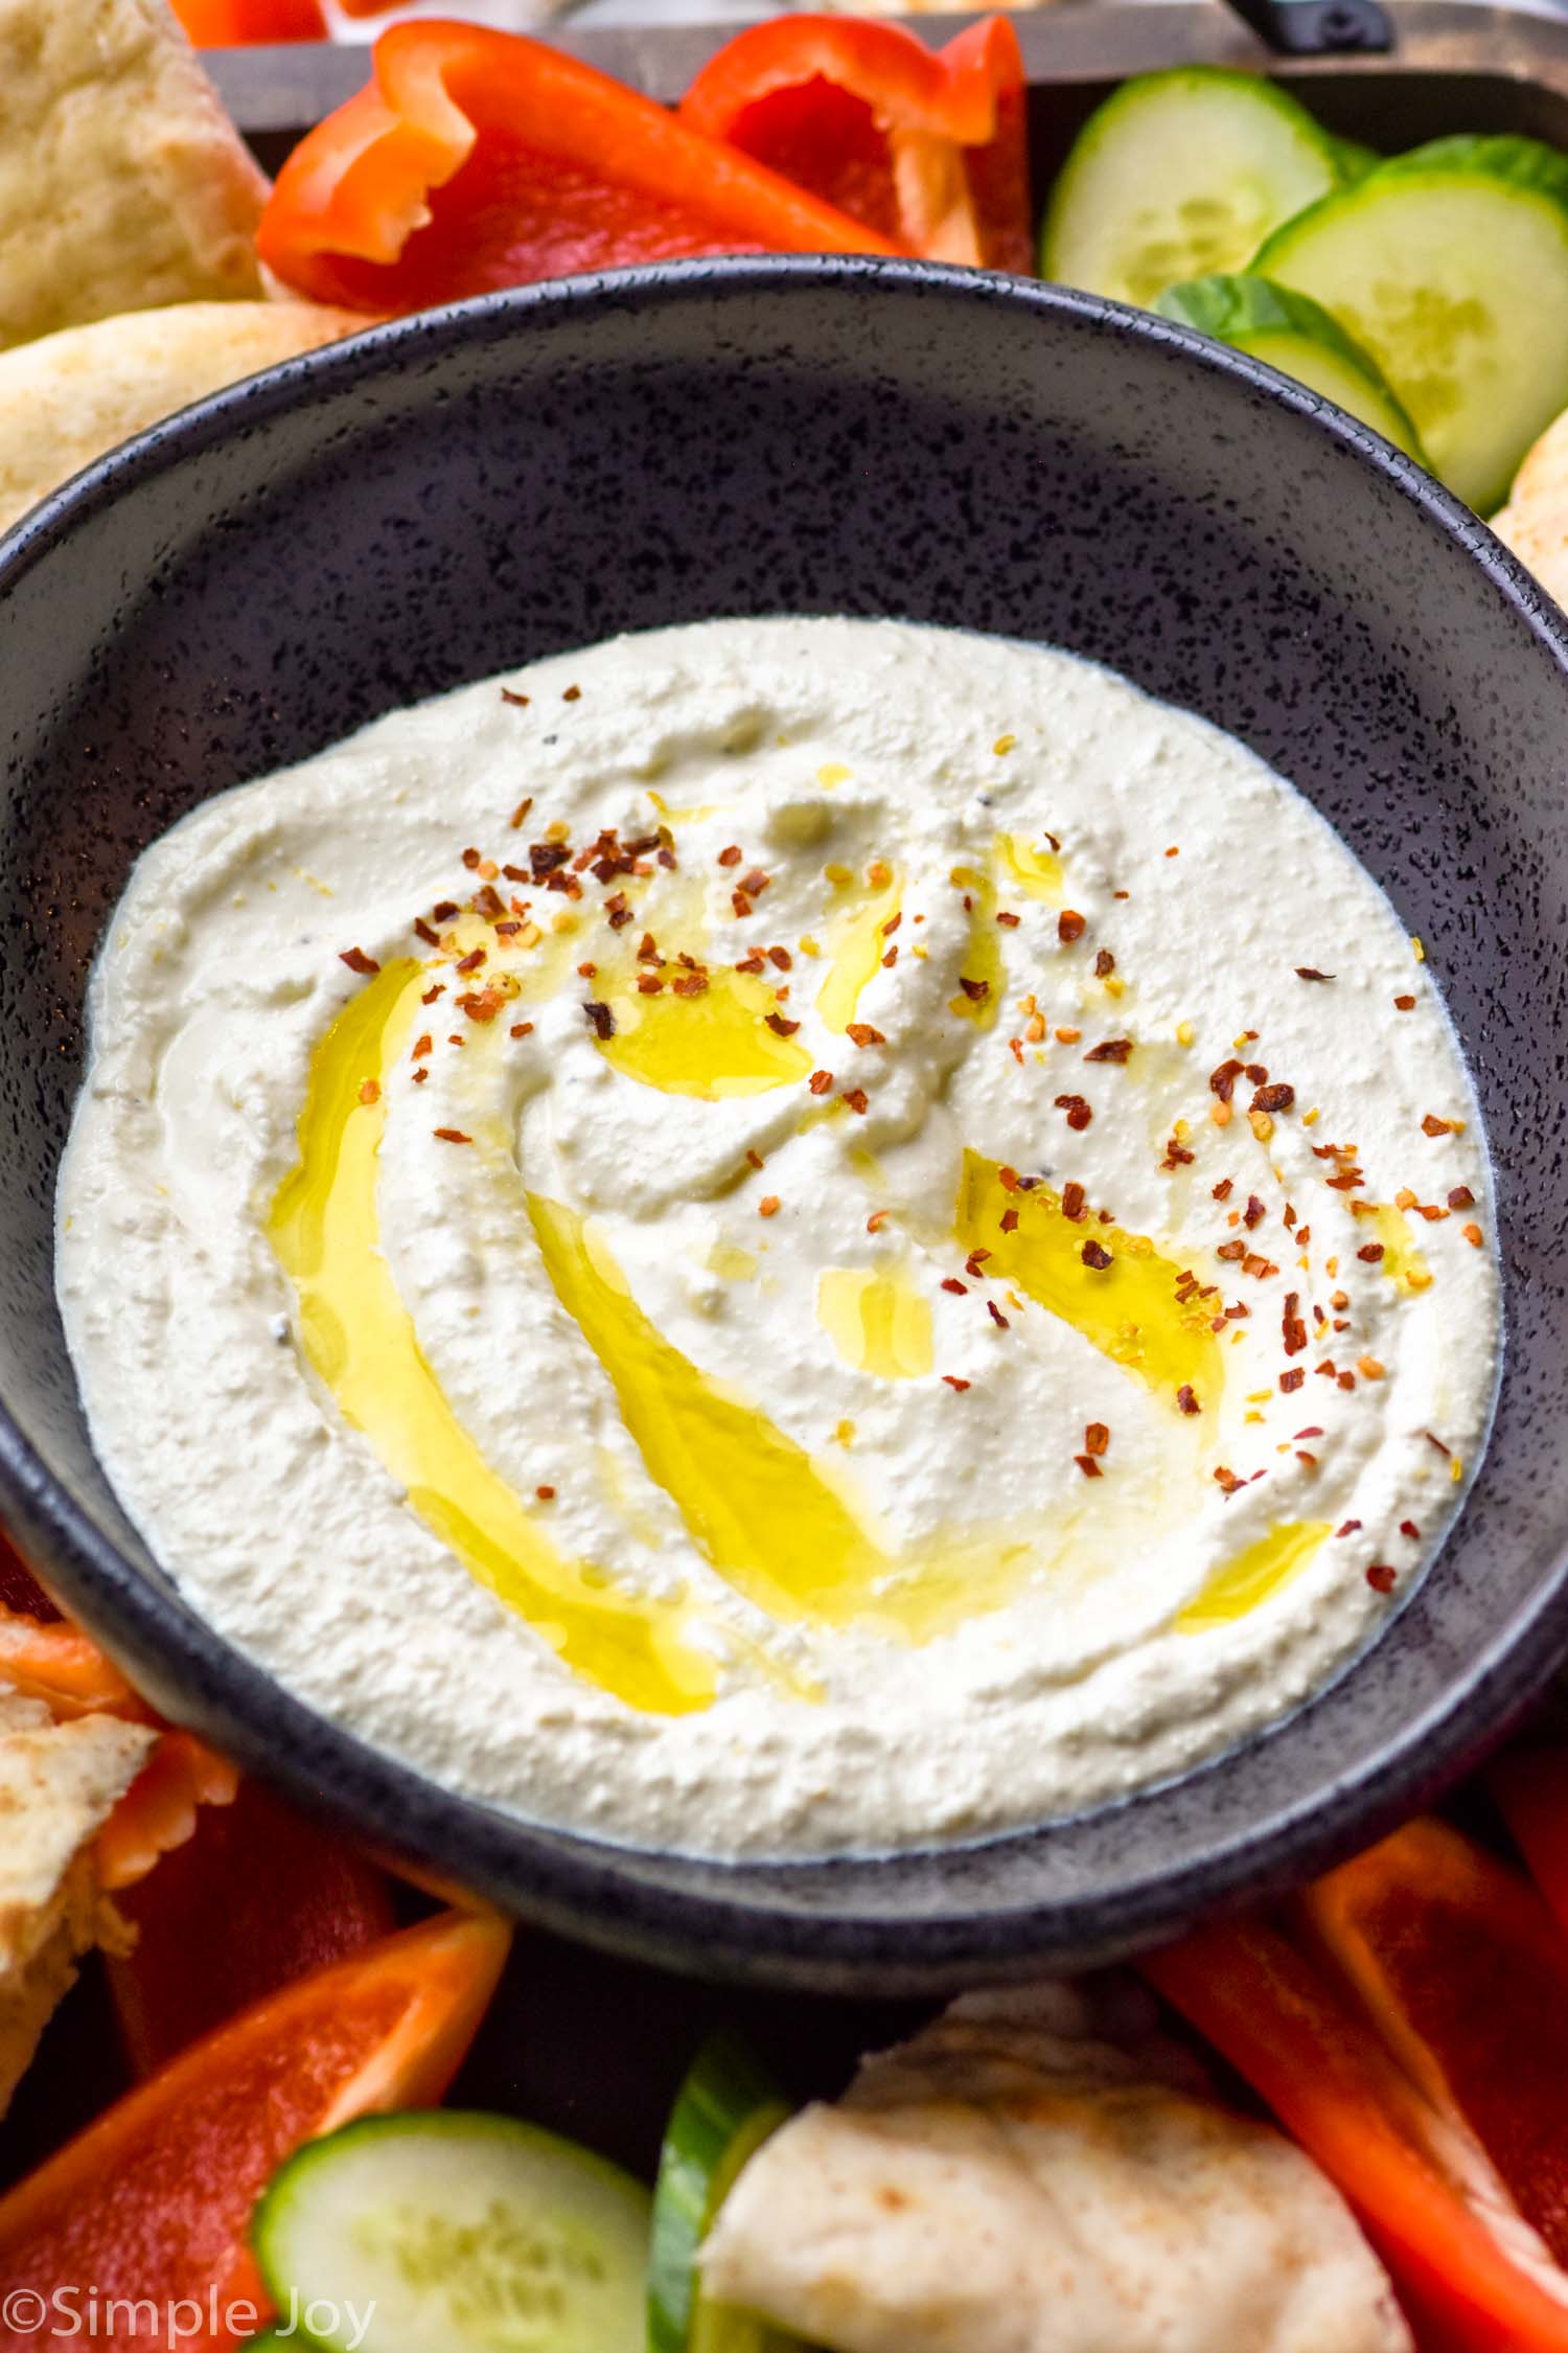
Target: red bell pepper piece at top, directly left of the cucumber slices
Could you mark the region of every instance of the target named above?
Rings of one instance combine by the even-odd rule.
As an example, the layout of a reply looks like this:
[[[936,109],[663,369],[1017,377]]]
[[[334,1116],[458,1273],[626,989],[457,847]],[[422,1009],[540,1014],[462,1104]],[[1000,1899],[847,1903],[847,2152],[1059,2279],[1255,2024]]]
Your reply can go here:
[[[679,111],[929,261],[1032,268],[1025,78],[1006,16],[936,54],[898,24],[776,16],[726,42]]]

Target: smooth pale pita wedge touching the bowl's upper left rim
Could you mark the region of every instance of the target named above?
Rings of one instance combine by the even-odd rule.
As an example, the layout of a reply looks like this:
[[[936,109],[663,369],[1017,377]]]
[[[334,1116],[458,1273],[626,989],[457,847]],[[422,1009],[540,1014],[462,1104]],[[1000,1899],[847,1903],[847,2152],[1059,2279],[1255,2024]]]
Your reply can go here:
[[[190,301],[0,351],[0,529],[160,416],[369,325],[303,301]]]

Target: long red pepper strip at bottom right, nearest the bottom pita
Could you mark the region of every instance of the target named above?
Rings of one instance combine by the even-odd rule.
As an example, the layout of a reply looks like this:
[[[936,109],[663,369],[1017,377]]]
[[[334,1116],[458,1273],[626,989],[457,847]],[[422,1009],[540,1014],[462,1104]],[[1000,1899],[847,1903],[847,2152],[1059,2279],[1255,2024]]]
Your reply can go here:
[[[1556,2271],[1521,2245],[1481,2151],[1422,2099],[1324,1962],[1244,1920],[1143,1969],[1345,2193],[1422,2344],[1568,2353],[1568,2280],[1559,2301]]]

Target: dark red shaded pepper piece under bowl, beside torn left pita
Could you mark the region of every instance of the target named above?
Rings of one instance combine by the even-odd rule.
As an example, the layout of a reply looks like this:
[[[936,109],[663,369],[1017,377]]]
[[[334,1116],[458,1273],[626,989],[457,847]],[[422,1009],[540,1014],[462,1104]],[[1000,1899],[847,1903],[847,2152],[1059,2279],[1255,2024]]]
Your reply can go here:
[[[108,1986],[139,2075],[395,1925],[386,1873],[259,1781],[202,1807],[190,1842],[118,1904],[136,1944]]]

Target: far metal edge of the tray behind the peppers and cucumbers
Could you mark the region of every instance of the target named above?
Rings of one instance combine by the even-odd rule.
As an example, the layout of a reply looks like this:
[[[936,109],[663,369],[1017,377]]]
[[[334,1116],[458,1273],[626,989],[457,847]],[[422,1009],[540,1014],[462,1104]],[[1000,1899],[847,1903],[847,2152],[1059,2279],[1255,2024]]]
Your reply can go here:
[[[764,9],[759,9],[764,14]],[[1342,139],[1394,153],[1448,132],[1521,132],[1568,148],[1568,19],[1469,0],[1387,0],[1387,52],[1276,56],[1239,16],[1204,0],[1119,7],[1088,0],[1013,19],[1030,73],[1034,191],[1044,193],[1086,115],[1128,73],[1246,66],[1288,82]],[[969,16],[919,16],[929,42]],[[550,42],[654,99],[675,101],[733,24],[550,28]],[[207,56],[228,108],[266,169],[355,89],[357,47],[219,49]]]

